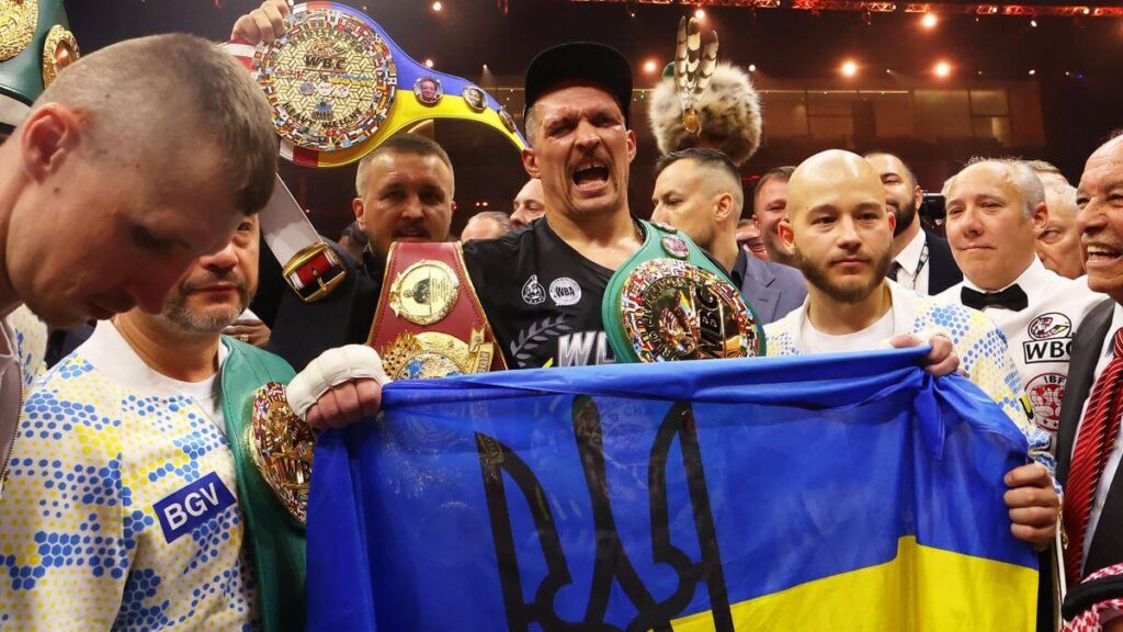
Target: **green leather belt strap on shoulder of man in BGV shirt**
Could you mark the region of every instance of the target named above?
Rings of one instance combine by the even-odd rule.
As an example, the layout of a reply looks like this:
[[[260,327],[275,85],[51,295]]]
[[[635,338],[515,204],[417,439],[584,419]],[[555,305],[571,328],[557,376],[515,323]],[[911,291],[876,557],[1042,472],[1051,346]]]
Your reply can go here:
[[[265,632],[304,630],[304,525],[294,518],[265,482],[245,441],[254,396],[266,382],[287,383],[287,362],[222,336],[229,354],[222,363],[222,414],[238,469],[238,504],[252,547]]]

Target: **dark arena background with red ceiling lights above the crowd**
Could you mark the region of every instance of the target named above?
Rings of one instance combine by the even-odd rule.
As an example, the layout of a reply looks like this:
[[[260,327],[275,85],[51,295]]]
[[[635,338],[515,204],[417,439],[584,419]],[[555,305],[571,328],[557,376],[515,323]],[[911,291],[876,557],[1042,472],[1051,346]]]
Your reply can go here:
[[[440,12],[432,11],[428,0],[346,3],[372,16],[416,60],[432,58],[437,70],[480,83],[508,103],[512,114],[521,112],[522,103],[521,93],[511,89],[521,88],[529,61],[537,52],[567,40],[615,46],[636,67],[637,90],[650,88],[658,76],[643,73],[642,62],[655,58],[661,70],[673,53],[679,17],[694,10],[693,6],[641,4],[633,7],[632,18],[622,3],[563,0],[509,0],[506,15],[500,13],[495,0],[444,0]],[[67,11],[83,53],[89,53],[128,37],[172,30],[225,40],[237,17],[257,4],[247,0],[219,4],[212,0],[74,0],[67,2]],[[741,66],[755,64],[754,79],[761,90],[789,84],[837,88],[847,81],[838,69],[848,57],[862,69],[851,81],[865,81],[874,89],[889,81],[886,67],[894,70],[895,81],[911,88],[1034,82],[1044,144],[1015,150],[1024,157],[1053,162],[1074,182],[1092,150],[1112,129],[1123,127],[1123,19],[1039,17],[1038,27],[1032,27],[1026,17],[942,15],[938,27],[926,30],[915,13],[731,7],[707,8],[706,12],[705,26],[721,36],[720,58]],[[942,82],[931,75],[938,58],[949,60],[955,67]],[[483,64],[489,66],[486,74]],[[1030,70],[1035,71],[1032,76]],[[640,150],[630,195],[632,209],[646,216],[657,152],[642,114],[642,97],[637,92],[632,110]],[[517,118],[521,125],[521,116]],[[765,145],[743,168],[749,183],[769,166],[798,162],[831,145],[814,138],[768,139],[767,110],[764,126]],[[457,121],[438,123],[435,136],[449,150],[456,169],[459,210],[454,232],[467,216],[484,210],[484,202],[489,209],[509,208],[524,175],[506,141],[490,128]],[[846,144],[855,151],[874,148],[861,142]],[[996,151],[973,143],[903,139],[892,145],[887,148],[905,155],[921,184],[935,190],[971,154]],[[351,219],[354,166],[308,170],[285,164],[282,174],[321,232],[337,237]]]

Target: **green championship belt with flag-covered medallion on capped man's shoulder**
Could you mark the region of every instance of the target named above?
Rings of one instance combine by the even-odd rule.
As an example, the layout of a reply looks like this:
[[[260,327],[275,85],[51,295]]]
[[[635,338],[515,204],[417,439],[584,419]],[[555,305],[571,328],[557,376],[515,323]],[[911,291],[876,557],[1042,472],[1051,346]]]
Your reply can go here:
[[[601,304],[618,361],[764,355],[764,328],[725,273],[683,233],[643,227],[642,247],[609,280]]]

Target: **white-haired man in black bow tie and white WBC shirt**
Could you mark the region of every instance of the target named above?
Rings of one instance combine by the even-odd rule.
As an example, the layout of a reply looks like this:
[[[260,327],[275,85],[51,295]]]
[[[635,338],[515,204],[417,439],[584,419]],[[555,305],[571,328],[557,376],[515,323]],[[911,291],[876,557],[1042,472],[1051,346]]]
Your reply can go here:
[[[1104,296],[1038,260],[1037,234],[1050,208],[1026,163],[974,159],[944,183],[943,195],[964,282],[941,296],[983,310],[1006,334],[1034,421],[1056,441],[1072,334]]]

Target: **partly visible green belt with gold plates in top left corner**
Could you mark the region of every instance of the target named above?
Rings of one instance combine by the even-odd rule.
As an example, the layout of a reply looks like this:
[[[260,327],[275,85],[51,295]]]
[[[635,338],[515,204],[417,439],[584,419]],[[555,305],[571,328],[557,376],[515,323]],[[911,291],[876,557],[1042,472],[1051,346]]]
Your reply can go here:
[[[63,0],[0,1],[0,129],[19,125],[58,72],[79,58]]]

